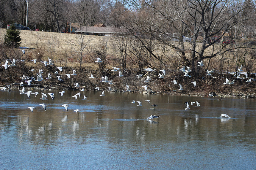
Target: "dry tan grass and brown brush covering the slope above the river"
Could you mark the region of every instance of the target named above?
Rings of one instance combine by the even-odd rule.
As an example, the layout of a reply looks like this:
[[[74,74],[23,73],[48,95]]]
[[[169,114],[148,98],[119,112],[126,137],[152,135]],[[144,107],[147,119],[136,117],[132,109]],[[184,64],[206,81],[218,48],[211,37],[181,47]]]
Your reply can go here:
[[[1,33],[5,29],[1,29]],[[107,90],[110,85],[100,82],[102,76],[113,79],[112,89],[126,90],[126,84],[130,86],[132,91],[143,92],[144,88],[141,86],[148,85],[148,90],[151,93],[170,93],[170,94],[187,94],[187,95],[202,95],[207,96],[209,92],[215,91],[218,95],[234,94],[234,93],[255,93],[255,81],[245,83],[247,79],[238,79],[236,75],[230,74],[230,71],[237,73],[237,67],[240,64],[248,66],[251,62],[251,72],[255,72],[255,64],[253,63],[255,57],[252,52],[246,53],[245,51],[233,51],[226,53],[227,55],[220,55],[216,58],[206,59],[205,66],[200,67],[199,76],[197,78],[184,77],[182,72],[179,72],[179,67],[189,65],[189,62],[182,63],[181,57],[174,51],[163,46],[158,45],[157,49],[159,59],[156,59],[142,50],[139,44],[134,43],[133,39],[126,38],[125,42],[117,41],[117,37],[103,37],[103,36],[84,36],[84,40],[88,42],[85,50],[79,49],[72,43],[78,42],[79,36],[76,34],[63,34],[53,32],[40,32],[40,31],[23,31],[21,30],[21,46],[29,47],[23,55],[19,49],[5,48],[3,45],[0,47],[0,61],[4,63],[6,60],[9,62],[15,58],[16,65],[8,69],[0,67],[1,79],[0,82],[4,83],[20,83],[21,77],[36,77],[36,72],[43,69],[44,76],[48,73],[51,74],[52,79],[45,79],[39,84],[40,87],[57,87],[74,89],[74,83],[80,83],[81,88],[87,90],[94,90],[100,87],[102,90]],[[81,35],[80,35],[81,36]],[[2,42],[3,36],[0,36]],[[90,41],[89,41],[90,40]],[[131,43],[132,42],[132,43]],[[118,46],[119,43],[119,46]],[[127,43],[127,44],[124,44]],[[125,45],[121,48],[120,45]],[[137,46],[135,46],[137,45]],[[221,44],[219,44],[221,45]],[[200,46],[200,43],[198,44]],[[125,48],[124,48],[125,47]],[[160,48],[161,47],[161,48]],[[163,52],[164,49],[164,52]],[[125,50],[125,51],[121,51]],[[251,57],[250,57],[251,55]],[[241,57],[242,56],[242,57]],[[102,59],[102,63],[95,63],[96,57]],[[44,66],[42,61],[48,61],[51,58],[54,65]],[[32,59],[37,59],[34,64]],[[24,61],[23,61],[24,60]],[[210,60],[210,61],[209,61]],[[253,62],[252,62],[253,61]],[[57,82],[55,67],[63,67],[63,71],[59,72],[63,81]],[[82,69],[80,69],[82,66]],[[119,67],[124,74],[124,77],[117,77],[117,72],[112,72],[112,67]],[[154,71],[147,72],[144,68],[152,68]],[[158,69],[156,69],[158,68]],[[206,76],[206,69],[215,68],[212,76]],[[30,69],[35,69],[31,72]],[[76,76],[71,76],[70,79],[65,74],[71,74],[72,70],[77,70]],[[158,79],[159,69],[166,69],[166,76],[164,79]],[[137,74],[143,74],[141,79],[137,78]],[[94,79],[90,79],[90,74],[93,74]],[[145,78],[151,77],[151,81],[145,83]],[[252,79],[256,78],[255,74],[250,74]],[[235,79],[234,85],[223,85],[225,79]],[[178,84],[171,81],[177,80]],[[193,81],[196,81],[196,87],[193,86]],[[178,90],[179,84],[182,84],[184,90]]]

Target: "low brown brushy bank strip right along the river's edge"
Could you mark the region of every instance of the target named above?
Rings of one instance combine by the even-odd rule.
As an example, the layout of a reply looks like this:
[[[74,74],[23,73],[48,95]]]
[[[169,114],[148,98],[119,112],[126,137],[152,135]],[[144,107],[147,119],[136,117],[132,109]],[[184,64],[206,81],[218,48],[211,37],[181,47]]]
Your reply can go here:
[[[12,68],[8,68],[12,69]],[[255,98],[255,81],[245,82],[245,79],[235,79],[233,85],[223,85],[225,80],[224,77],[217,75],[215,73],[214,77],[207,77],[207,79],[192,79],[183,77],[181,72],[167,71],[166,76],[163,79],[157,78],[157,71],[143,72],[141,78],[137,78],[135,74],[130,74],[129,72],[124,73],[124,77],[117,77],[118,73],[111,71],[110,69],[105,69],[105,75],[109,78],[108,81],[113,80],[113,85],[106,82],[101,82],[102,77],[99,75],[98,70],[91,70],[87,68],[85,71],[76,72],[77,75],[68,78],[65,73],[71,73],[72,68],[63,68],[63,72],[59,72],[58,76],[61,77],[62,81],[57,81],[57,76],[51,73],[52,79],[46,79],[47,72],[50,71],[51,66],[43,68],[43,80],[41,82],[32,81],[31,85],[23,80],[23,85],[25,89],[31,90],[96,90],[99,87],[101,91],[108,90],[111,87],[112,92],[125,92],[127,86],[129,86],[130,92],[125,93],[144,93],[144,94],[163,94],[163,95],[183,95],[183,96],[209,96],[209,93],[214,93],[213,97],[225,98],[225,97],[240,97],[240,98]],[[65,71],[64,71],[65,69]],[[67,70],[68,71],[67,71]],[[31,71],[30,71],[31,72]],[[31,72],[32,77],[36,77],[36,71]],[[65,73],[64,73],[65,72]],[[89,78],[90,74],[93,74],[94,78]],[[147,76],[151,78],[149,82],[145,82]],[[220,78],[216,78],[220,77]],[[14,77],[13,77],[14,78]],[[24,77],[23,77],[24,78]],[[26,79],[26,78],[25,78]],[[176,80],[177,84],[171,82]],[[21,89],[21,80],[16,78],[11,82],[3,82],[0,79],[0,86],[4,87],[6,85],[11,85],[10,89]],[[196,81],[196,86],[193,85],[193,81]],[[79,87],[75,88],[74,83],[79,83]],[[183,90],[179,90],[179,84],[182,84]],[[147,85],[147,90],[145,90],[144,85]]]

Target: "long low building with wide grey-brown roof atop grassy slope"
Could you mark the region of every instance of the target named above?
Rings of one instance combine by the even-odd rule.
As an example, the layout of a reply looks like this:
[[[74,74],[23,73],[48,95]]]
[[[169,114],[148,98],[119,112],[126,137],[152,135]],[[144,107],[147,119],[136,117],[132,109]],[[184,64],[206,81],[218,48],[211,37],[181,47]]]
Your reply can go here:
[[[106,27],[81,27],[76,30],[80,34],[111,36],[116,34],[126,34],[127,31],[123,28],[115,28],[112,26]]]

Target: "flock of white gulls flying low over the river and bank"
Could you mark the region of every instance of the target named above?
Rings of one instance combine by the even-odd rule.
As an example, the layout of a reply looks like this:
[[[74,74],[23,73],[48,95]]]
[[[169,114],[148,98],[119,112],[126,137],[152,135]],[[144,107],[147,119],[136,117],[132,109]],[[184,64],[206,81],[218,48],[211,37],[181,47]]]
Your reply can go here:
[[[22,50],[22,53],[24,54],[25,51]],[[47,62],[47,61],[42,61],[42,63],[44,63],[44,66],[47,66],[47,65],[54,65],[54,64],[53,64],[53,61],[52,61],[50,58],[48,58],[48,59],[49,59],[49,62]],[[96,63],[101,63],[101,62],[102,62],[102,60],[101,60],[100,58],[96,58],[96,59],[97,59],[97,61],[95,61]],[[32,61],[34,61],[34,63],[37,62],[36,59],[33,59]],[[3,66],[5,69],[7,69],[7,68],[9,68],[9,67],[16,66],[16,65],[15,65],[15,62],[16,62],[15,59],[13,59],[13,61],[11,61],[11,64],[8,64],[8,60],[6,60],[6,62],[5,62],[2,66]],[[199,63],[198,66],[200,66],[200,67],[204,66],[203,61],[198,62],[198,63]],[[187,70],[186,70],[186,68],[187,68]],[[56,67],[56,69],[58,69],[59,71],[62,72],[62,67]],[[243,65],[241,65],[241,67],[238,68],[238,72],[242,72],[242,71],[243,71],[242,69],[243,69]],[[35,69],[31,69],[30,71],[33,72],[33,71],[35,71]],[[113,72],[118,72],[118,71],[119,71],[119,75],[118,75],[117,77],[123,77],[123,76],[124,76],[124,75],[123,75],[123,72],[121,72],[120,69],[117,68],[117,67],[113,67],[113,70],[111,70],[111,71],[113,71]],[[159,79],[163,79],[163,78],[165,77],[166,71],[165,71],[164,69],[162,69],[162,70],[160,70],[160,71],[161,71],[163,74],[159,74],[159,77],[158,77],[158,78],[159,78]],[[185,75],[184,75],[185,77],[191,77],[191,76],[189,75],[189,73],[192,72],[190,67],[188,67],[188,66],[182,66],[182,68],[180,68],[179,71],[180,71],[180,72],[183,72],[183,73],[185,74]],[[214,71],[215,71],[215,69],[207,70],[207,74],[206,74],[206,75],[207,75],[207,76],[211,76],[210,73],[213,73]],[[21,83],[20,83],[20,86],[19,86],[19,87],[23,87],[22,90],[19,90],[20,94],[26,94],[29,98],[30,98],[30,95],[35,95],[35,96],[37,96],[37,95],[38,95],[38,92],[35,92],[35,93],[33,93],[32,91],[27,91],[27,92],[25,92],[25,91],[24,91],[25,88],[24,88],[24,86],[23,86],[23,82],[22,82],[22,81],[27,82],[27,84],[30,86],[30,85],[31,85],[31,82],[32,82],[33,80],[36,81],[36,82],[42,81],[42,80],[43,80],[42,74],[43,74],[43,70],[40,69],[39,72],[36,74],[36,75],[37,75],[37,79],[35,79],[34,77],[25,77],[25,76],[23,75],[23,77],[21,77],[22,80],[21,80]],[[59,73],[58,73],[58,71],[56,71],[56,72],[54,72],[53,74],[57,75],[57,74],[59,74]],[[76,74],[76,71],[73,70],[73,74],[65,74],[65,76],[67,76],[68,78],[70,78],[71,75],[72,75],[72,76],[77,75],[77,74]],[[138,75],[136,75],[136,77],[138,77],[138,78],[141,78],[142,76],[143,76],[143,74],[138,74]],[[56,76],[56,77],[57,77],[57,81],[62,81],[62,79],[61,79],[60,76]],[[93,77],[93,75],[91,74],[89,78],[94,78],[94,77]],[[48,76],[46,77],[46,79],[52,79],[50,73],[48,73]],[[107,76],[105,76],[105,77],[102,76],[101,82],[108,83],[108,85],[113,85],[113,80],[108,80],[108,79],[109,79],[109,78],[108,78]],[[147,78],[146,78],[146,80],[145,80],[144,82],[145,82],[145,83],[148,83],[150,80],[151,80],[151,78],[150,78],[149,76],[147,76]],[[173,82],[174,84],[177,84],[177,81],[176,81],[176,80],[172,80],[171,82]],[[226,82],[224,82],[224,85],[232,85],[232,84],[234,84],[234,82],[235,82],[235,80],[230,81],[230,80],[226,79]],[[251,79],[247,80],[246,82],[251,82]],[[193,81],[193,82],[191,82],[191,83],[193,83],[193,85],[196,86],[196,81]],[[79,83],[75,83],[74,85],[75,85],[75,86],[74,86],[75,88],[76,88],[76,87],[80,87],[80,86],[79,86]],[[124,92],[130,92],[131,90],[130,90],[130,88],[129,88],[129,85],[126,85],[126,87],[127,87],[127,89],[126,89]],[[145,91],[147,91],[147,88],[148,88],[147,85],[143,85],[142,87],[145,88]],[[179,90],[183,90],[183,87],[182,87],[181,84],[179,84],[179,87],[180,87]],[[3,87],[2,90],[11,91],[10,88],[11,88],[10,85],[7,85],[7,86]],[[109,88],[109,91],[112,91],[112,88],[111,88],[111,87],[108,87],[108,88]],[[100,90],[99,87],[96,87],[95,89],[96,89],[96,90]],[[84,91],[84,88],[82,88],[82,90],[80,90],[80,91]],[[61,91],[61,92],[59,92],[59,93],[60,93],[61,96],[63,96],[63,94],[65,93],[65,91]],[[51,96],[51,99],[52,99],[52,100],[54,100],[54,93],[48,93],[48,95]],[[81,93],[79,92],[79,93],[77,93],[76,95],[74,95],[74,96],[72,96],[72,97],[74,97],[74,98],[77,100],[78,97],[80,98],[80,95],[81,95]],[[105,96],[105,92],[102,91],[102,94],[101,94],[100,96]],[[209,94],[209,97],[213,97],[213,96],[214,96],[214,93],[210,93],[210,94]],[[82,100],[85,100],[85,99],[87,99],[87,96],[84,95],[84,97],[82,98]],[[42,93],[42,98],[40,98],[40,100],[42,100],[42,101],[43,101],[43,100],[48,100],[47,95],[46,95],[45,93]],[[219,99],[219,100],[221,100],[221,99]],[[150,103],[149,100],[146,100],[146,101]],[[141,102],[141,101],[136,101],[136,102],[138,102],[138,105],[137,105],[137,106],[142,106],[142,102]],[[135,103],[135,100],[133,100],[132,103]],[[196,104],[195,107],[200,107],[200,103],[199,103],[198,101],[196,101],[196,102],[191,102],[191,103],[185,102],[185,104],[186,104],[185,110],[190,109],[190,108],[189,108],[189,104],[191,104],[191,105]],[[45,103],[39,104],[39,105],[42,106],[43,109],[46,111],[46,104],[45,104]],[[68,111],[68,104],[63,104],[62,106],[65,108],[65,110]],[[157,106],[157,104],[152,104],[151,106],[153,106],[152,109],[155,109],[155,107]],[[35,109],[35,107],[28,107],[28,109],[30,109],[31,112],[33,112],[33,110]],[[79,109],[74,110],[74,112],[76,112],[76,113],[79,112],[79,111],[80,111]],[[159,117],[159,116],[157,116],[157,115],[151,115],[151,116],[148,117],[147,119],[153,119],[153,118],[157,118],[157,117]],[[228,117],[228,118],[230,118],[230,117],[229,117],[228,115],[226,115],[226,114],[221,114],[221,117]]]

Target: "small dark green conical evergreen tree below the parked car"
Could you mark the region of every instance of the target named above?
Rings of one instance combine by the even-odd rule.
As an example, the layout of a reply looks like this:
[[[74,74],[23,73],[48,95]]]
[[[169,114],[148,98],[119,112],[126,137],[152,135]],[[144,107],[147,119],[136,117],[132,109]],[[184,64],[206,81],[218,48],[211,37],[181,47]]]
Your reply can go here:
[[[4,34],[4,45],[6,47],[17,48],[21,44],[20,31],[15,29],[15,25],[11,25],[10,29],[6,29],[6,34]]]

